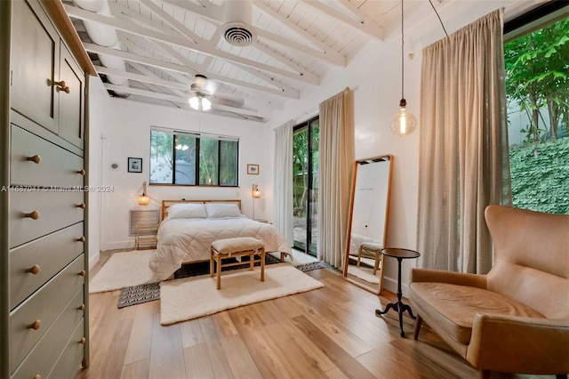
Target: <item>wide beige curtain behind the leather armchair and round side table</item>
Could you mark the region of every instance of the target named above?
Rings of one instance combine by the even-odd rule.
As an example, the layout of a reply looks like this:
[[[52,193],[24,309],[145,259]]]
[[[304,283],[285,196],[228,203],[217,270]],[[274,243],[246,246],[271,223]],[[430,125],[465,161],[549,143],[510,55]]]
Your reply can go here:
[[[423,51],[418,241],[426,268],[484,274],[484,210],[511,203],[502,11]]]

